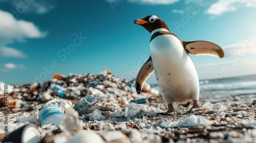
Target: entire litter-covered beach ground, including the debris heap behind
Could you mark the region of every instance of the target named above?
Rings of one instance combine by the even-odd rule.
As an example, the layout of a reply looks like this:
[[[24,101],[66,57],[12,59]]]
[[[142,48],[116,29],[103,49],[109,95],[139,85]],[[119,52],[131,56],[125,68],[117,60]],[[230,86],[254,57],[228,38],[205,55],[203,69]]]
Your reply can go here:
[[[216,97],[201,96],[202,107],[192,113],[174,104],[177,114],[161,115],[167,106],[157,89],[145,83],[138,95],[133,81],[107,70],[103,75],[55,74],[44,84],[9,87],[8,134],[15,139],[33,135],[38,142],[253,142],[256,137],[254,104],[206,102]],[[3,116],[4,104],[0,106]],[[1,130],[1,142],[16,141],[4,136]]]

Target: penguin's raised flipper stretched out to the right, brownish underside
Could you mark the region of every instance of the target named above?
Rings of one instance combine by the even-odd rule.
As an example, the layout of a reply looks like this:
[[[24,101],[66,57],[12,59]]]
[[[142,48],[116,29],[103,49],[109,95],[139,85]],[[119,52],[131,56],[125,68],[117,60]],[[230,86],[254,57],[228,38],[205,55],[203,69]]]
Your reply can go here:
[[[219,58],[224,57],[223,49],[209,41],[183,41],[186,51],[193,55],[210,55]]]

